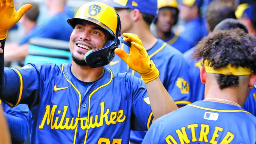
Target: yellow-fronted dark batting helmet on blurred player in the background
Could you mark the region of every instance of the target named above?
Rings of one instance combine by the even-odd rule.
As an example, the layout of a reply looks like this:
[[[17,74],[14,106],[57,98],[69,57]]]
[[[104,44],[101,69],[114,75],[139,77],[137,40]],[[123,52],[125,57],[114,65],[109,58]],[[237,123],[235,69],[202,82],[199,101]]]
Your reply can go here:
[[[175,22],[174,25],[178,21],[179,9],[178,9],[178,2],[176,0],[157,0],[157,8],[160,11],[162,8],[170,8],[173,10],[175,15]],[[154,23],[156,24],[157,16],[154,19]]]

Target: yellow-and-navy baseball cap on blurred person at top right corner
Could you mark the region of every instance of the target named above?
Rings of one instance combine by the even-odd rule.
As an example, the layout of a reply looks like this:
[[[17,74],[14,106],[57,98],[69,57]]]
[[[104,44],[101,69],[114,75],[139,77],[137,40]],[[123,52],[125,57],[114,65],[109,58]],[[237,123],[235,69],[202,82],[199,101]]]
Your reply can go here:
[[[255,7],[249,4],[240,4],[237,6],[236,9],[236,18],[240,19],[243,18],[244,16],[247,16],[250,20],[256,21],[256,16],[255,16]]]

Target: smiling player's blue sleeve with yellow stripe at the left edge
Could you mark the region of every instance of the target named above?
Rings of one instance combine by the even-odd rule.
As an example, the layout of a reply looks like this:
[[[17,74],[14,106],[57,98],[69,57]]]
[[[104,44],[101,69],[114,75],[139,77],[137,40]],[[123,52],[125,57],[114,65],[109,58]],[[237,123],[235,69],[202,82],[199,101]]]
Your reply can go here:
[[[33,107],[39,103],[43,85],[50,81],[51,64],[28,64],[22,68],[4,70],[2,100],[11,107],[28,104]],[[49,75],[48,75],[49,74]]]

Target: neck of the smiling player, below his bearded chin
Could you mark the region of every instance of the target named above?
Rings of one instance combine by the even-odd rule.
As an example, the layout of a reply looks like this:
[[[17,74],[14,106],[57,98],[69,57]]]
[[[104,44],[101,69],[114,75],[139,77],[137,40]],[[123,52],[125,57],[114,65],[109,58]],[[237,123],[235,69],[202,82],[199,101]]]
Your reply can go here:
[[[89,66],[79,66],[72,61],[71,72],[77,79],[83,82],[94,82],[104,73],[104,67],[90,68]]]

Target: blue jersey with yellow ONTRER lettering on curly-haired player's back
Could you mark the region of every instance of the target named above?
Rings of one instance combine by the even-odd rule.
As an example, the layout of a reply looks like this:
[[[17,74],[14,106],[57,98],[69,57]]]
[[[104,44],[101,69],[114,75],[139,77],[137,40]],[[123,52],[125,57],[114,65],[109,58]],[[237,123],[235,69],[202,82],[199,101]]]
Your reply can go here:
[[[142,144],[256,143],[256,117],[235,105],[197,101],[158,118]]]

